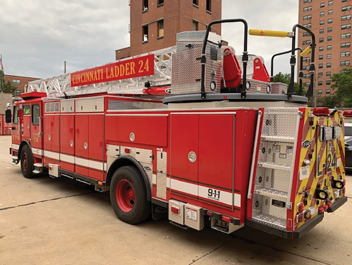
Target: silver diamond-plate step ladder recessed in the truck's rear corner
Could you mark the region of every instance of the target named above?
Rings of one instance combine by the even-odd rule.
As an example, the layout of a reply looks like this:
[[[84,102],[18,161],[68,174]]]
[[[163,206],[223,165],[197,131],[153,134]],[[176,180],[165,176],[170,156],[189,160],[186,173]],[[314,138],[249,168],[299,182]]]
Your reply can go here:
[[[302,113],[298,108],[265,109],[255,175],[252,219],[286,229]]]

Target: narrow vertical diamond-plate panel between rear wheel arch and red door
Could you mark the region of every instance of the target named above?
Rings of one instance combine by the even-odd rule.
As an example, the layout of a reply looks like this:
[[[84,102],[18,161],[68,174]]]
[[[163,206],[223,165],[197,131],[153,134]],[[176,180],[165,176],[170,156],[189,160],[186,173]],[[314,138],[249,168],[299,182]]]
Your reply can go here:
[[[166,178],[168,154],[163,151],[156,151],[156,196],[166,199]]]

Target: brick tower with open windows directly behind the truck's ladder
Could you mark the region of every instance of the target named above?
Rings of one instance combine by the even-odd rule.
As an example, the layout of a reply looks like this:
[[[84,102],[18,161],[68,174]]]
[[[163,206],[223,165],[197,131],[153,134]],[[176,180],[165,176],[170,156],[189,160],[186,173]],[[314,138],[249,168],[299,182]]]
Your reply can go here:
[[[116,59],[176,45],[176,34],[205,30],[221,18],[221,0],[131,0],[130,47],[116,51]],[[212,31],[221,34],[221,26]]]

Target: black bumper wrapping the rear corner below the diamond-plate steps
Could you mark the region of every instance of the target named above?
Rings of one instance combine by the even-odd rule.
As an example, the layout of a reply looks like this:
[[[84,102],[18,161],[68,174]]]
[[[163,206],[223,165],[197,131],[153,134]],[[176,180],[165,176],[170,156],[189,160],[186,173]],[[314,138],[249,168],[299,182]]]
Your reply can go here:
[[[251,228],[262,230],[264,232],[285,237],[285,238],[294,238],[294,239],[299,239],[301,238],[304,234],[306,234],[309,230],[314,228],[318,223],[321,222],[321,220],[324,218],[324,213],[318,214],[312,219],[310,219],[308,222],[306,222],[304,225],[302,225],[300,228],[294,230],[294,231],[287,231],[287,230],[281,230],[281,229],[276,229],[261,223],[258,223],[253,220],[247,220],[246,225],[250,226]]]

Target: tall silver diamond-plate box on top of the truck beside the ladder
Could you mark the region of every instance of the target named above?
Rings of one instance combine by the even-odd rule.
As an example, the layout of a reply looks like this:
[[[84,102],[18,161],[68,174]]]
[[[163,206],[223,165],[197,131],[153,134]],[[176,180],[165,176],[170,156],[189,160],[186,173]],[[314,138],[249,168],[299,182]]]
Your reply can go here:
[[[172,54],[171,94],[201,92],[201,61],[199,58],[204,37],[205,31],[188,31],[177,34],[176,53]],[[208,40],[219,43],[221,36],[210,32]],[[219,93],[222,76],[221,48],[208,42],[205,54],[205,92]],[[211,88],[212,82],[214,83]]]

